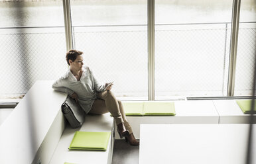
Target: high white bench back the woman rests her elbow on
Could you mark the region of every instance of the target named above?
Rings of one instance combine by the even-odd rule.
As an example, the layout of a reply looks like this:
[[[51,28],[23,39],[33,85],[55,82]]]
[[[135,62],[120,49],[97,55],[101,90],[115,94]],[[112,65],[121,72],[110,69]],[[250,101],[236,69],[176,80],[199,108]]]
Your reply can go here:
[[[37,81],[1,124],[0,163],[50,161],[64,130],[60,104],[66,99],[52,90],[52,83]]]

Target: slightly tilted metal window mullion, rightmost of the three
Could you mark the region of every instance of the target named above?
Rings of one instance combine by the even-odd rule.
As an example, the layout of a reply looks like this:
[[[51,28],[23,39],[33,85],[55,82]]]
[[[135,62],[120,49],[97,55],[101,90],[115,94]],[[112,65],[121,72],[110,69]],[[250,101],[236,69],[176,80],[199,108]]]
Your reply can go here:
[[[238,31],[239,31],[240,4],[241,4],[240,0],[233,0],[227,96],[233,96],[234,90],[235,90],[235,67],[236,67],[236,60],[237,60],[237,40],[238,40]]]

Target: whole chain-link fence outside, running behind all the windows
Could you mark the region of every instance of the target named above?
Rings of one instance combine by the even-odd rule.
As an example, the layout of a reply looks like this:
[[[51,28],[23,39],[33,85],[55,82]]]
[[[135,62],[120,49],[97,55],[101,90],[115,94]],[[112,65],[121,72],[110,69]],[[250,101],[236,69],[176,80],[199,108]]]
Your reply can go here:
[[[255,23],[254,23],[255,25]],[[253,26],[254,26],[253,25]],[[75,48],[117,97],[147,99],[147,26],[75,26]],[[239,30],[236,95],[249,95],[256,28]],[[156,97],[226,96],[230,24],[156,26]],[[67,69],[64,28],[0,29],[0,95],[25,94]]]

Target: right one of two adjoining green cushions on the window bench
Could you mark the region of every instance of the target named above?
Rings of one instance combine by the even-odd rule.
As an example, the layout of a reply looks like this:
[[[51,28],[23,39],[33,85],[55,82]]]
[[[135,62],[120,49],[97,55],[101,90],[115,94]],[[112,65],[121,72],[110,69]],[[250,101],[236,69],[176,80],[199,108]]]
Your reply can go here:
[[[174,102],[145,102],[143,112],[145,116],[174,116]]]

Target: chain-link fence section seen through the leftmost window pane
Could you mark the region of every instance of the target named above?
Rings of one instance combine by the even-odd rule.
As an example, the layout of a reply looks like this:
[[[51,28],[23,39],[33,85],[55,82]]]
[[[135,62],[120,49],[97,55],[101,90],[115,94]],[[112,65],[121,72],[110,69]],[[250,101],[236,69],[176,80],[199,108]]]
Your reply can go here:
[[[54,80],[66,71],[64,28],[59,29],[61,32],[50,32],[51,28],[40,30],[0,29],[1,96],[23,95],[35,81]]]

